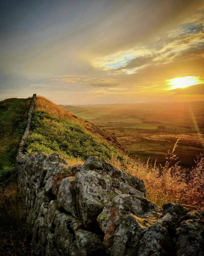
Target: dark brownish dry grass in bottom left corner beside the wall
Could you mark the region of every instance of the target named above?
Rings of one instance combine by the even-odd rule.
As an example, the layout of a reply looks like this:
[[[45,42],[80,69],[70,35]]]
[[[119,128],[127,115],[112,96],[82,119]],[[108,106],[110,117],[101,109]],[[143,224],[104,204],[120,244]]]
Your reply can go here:
[[[0,255],[31,255],[26,207],[15,182],[0,187]]]

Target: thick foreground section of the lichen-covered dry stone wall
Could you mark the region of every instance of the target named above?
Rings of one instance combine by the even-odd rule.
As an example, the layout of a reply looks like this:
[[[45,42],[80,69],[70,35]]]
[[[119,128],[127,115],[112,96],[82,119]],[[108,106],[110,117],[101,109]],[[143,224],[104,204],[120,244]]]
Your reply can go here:
[[[97,157],[18,154],[33,255],[202,256],[204,213],[145,198],[144,182]]]

